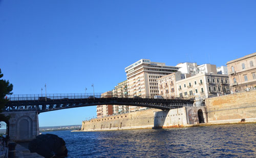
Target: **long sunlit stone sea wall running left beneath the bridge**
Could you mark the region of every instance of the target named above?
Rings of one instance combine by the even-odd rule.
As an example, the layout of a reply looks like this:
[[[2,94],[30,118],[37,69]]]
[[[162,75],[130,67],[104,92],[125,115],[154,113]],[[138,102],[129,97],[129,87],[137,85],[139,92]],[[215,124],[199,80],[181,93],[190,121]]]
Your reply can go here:
[[[121,115],[92,119],[83,121],[81,130],[117,130],[117,129],[136,129],[153,128],[154,111],[160,109],[147,109],[136,112],[130,112]]]

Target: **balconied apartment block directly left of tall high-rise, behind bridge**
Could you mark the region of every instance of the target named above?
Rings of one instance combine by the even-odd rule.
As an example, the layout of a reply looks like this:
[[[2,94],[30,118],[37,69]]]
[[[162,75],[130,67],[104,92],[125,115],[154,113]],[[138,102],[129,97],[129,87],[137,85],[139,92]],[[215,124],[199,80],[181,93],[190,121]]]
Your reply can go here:
[[[113,97],[127,97],[127,80],[118,83],[113,89]],[[113,105],[113,114],[121,114],[129,112],[129,106],[127,105]]]

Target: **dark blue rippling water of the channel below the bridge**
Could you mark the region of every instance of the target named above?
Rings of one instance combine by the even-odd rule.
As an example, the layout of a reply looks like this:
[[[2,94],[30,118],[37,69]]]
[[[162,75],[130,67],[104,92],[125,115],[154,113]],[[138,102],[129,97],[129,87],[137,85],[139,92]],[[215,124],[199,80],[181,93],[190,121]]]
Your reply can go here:
[[[68,157],[256,156],[256,124],[43,133],[65,140]]]

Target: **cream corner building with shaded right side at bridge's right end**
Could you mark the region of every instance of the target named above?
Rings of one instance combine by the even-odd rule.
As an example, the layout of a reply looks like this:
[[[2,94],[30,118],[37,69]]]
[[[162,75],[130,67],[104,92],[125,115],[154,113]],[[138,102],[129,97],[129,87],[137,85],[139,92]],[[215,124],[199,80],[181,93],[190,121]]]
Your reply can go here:
[[[229,93],[227,75],[201,73],[176,82],[176,95],[195,97],[196,100]]]

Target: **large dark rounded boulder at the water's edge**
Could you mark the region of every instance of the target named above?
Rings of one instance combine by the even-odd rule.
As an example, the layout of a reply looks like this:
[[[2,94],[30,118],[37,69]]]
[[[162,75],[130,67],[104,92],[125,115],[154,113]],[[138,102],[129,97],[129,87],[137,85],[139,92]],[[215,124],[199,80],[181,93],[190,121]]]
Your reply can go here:
[[[29,150],[44,157],[66,157],[68,155],[65,141],[55,134],[38,135],[29,143]]]

